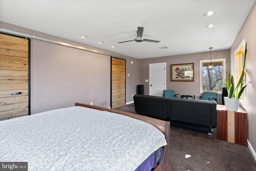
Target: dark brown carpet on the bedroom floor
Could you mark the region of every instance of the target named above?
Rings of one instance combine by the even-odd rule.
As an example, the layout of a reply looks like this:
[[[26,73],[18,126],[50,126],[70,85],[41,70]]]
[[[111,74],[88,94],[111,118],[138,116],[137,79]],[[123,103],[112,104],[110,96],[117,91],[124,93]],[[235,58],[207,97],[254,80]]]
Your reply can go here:
[[[136,113],[134,103],[115,108]],[[172,171],[256,171],[256,161],[246,146],[216,139],[191,129],[170,128]]]

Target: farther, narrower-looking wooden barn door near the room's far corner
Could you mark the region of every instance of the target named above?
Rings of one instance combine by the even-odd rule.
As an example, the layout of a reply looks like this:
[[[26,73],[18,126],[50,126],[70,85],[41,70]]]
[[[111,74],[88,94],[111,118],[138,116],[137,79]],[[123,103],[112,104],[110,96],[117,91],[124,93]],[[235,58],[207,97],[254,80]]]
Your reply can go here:
[[[111,58],[111,108],[125,105],[125,60]]]

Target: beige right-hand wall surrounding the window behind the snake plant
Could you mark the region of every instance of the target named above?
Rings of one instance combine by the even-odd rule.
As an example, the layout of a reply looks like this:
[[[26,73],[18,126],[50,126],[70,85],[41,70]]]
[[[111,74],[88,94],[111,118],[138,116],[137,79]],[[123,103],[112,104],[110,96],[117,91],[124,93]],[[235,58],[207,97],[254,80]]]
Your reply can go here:
[[[245,39],[248,44],[248,56],[246,59],[246,82],[251,82],[246,87],[246,112],[248,113],[248,142],[252,149],[256,151],[256,4],[252,7],[247,19],[238,33],[234,43],[230,48],[231,72],[234,74],[234,51]],[[256,156],[254,156],[256,157]]]

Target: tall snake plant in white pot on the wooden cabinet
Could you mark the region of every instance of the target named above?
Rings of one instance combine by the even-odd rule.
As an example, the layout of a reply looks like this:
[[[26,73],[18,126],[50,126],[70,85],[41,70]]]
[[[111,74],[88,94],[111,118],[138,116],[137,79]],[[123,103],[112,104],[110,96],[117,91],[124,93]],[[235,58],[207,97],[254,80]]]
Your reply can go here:
[[[238,111],[240,96],[244,92],[244,89],[246,88],[246,86],[250,83],[249,82],[248,84],[244,85],[246,56],[247,56],[247,43],[245,45],[245,50],[244,50],[243,70],[237,85],[235,85],[234,77],[231,75],[230,71],[228,70],[228,80],[225,81],[225,85],[228,91],[228,97],[224,97],[225,107],[227,110]]]

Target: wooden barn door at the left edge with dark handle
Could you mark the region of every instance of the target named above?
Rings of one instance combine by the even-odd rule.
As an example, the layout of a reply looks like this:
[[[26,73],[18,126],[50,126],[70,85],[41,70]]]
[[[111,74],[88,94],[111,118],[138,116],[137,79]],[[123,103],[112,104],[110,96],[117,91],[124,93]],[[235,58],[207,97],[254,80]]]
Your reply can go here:
[[[0,34],[0,120],[30,114],[29,41]]]

